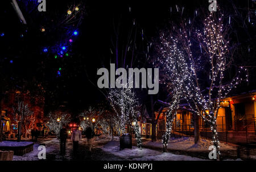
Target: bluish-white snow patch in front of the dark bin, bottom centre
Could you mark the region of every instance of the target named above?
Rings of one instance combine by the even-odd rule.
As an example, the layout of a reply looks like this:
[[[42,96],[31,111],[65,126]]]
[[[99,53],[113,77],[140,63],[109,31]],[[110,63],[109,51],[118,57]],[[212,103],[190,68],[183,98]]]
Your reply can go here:
[[[108,144],[103,146],[102,150],[114,154],[115,156],[126,158],[127,160],[137,161],[202,161],[203,159],[176,155],[172,153],[161,153],[156,150],[142,148],[139,149],[137,146],[133,146],[133,149],[119,150],[119,141],[110,141]]]

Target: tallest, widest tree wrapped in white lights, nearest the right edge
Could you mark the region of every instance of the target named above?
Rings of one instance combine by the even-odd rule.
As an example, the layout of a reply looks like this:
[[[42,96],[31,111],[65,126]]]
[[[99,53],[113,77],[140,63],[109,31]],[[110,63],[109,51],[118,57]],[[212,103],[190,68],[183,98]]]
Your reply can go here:
[[[226,75],[233,53],[229,41],[226,40],[228,30],[224,30],[222,20],[223,15],[218,18],[217,13],[211,12],[204,20],[201,30],[192,30],[189,26],[190,20],[185,24],[182,21],[180,30],[177,30],[178,27],[174,27],[172,33],[175,36],[172,37],[171,41],[175,47],[184,50],[181,56],[178,56],[183,58],[184,63],[188,64],[187,70],[184,70],[187,73],[186,78],[183,81],[180,80],[180,83],[174,82],[174,85],[180,86],[179,90],[187,100],[191,110],[210,124],[217,159],[220,158],[220,146],[216,119],[221,100],[243,80],[241,78],[243,73],[246,73],[246,77],[248,77],[247,70],[242,67],[238,69],[233,79]],[[192,37],[193,35],[196,36],[197,41],[195,41],[195,37]],[[191,43],[192,39],[193,43]],[[198,49],[195,45],[198,45]],[[162,49],[162,53],[166,53],[166,51],[171,51],[173,55],[176,54],[173,48]],[[170,67],[167,72],[171,72],[170,69],[173,68]],[[207,73],[207,75],[203,73]],[[174,72],[173,74],[177,78],[180,77],[180,73]],[[171,81],[174,79],[171,78]],[[207,85],[201,84],[200,81],[207,82]],[[175,91],[175,86],[173,87]]]

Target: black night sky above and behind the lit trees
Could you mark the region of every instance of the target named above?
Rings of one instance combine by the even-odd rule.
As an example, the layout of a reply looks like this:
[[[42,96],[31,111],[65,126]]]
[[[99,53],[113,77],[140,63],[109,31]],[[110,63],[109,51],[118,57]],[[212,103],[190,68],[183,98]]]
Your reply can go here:
[[[97,88],[97,69],[109,66],[110,60],[114,62],[110,53],[113,26],[119,23],[121,34],[126,36],[135,19],[138,32],[143,29],[144,41],[150,43],[154,37],[159,36],[159,30],[164,28],[169,20],[175,19],[175,16],[171,15],[170,7],[175,10],[175,5],[184,6],[187,16],[202,6],[208,8],[206,0],[83,1],[85,14],[82,24],[77,28],[79,35],[72,45],[72,56],[65,61],[56,62],[52,55],[46,56],[40,51],[44,44],[55,39],[54,34],[47,39],[40,39],[41,33],[38,30],[48,24],[44,23],[49,22],[51,15],[54,14],[53,20],[57,20],[56,13],[65,14],[70,2],[48,0],[47,12],[42,14],[35,10],[31,12],[35,15],[31,15],[22,9],[28,22],[27,27],[20,24],[9,2],[1,2],[3,5],[0,7],[0,32],[5,32],[5,37],[0,38],[1,73],[6,77],[19,78],[19,81],[26,79],[31,82],[36,78],[45,85],[48,93],[54,92],[53,97],[49,94],[46,96],[47,107],[57,108],[65,104],[75,114],[90,105],[106,102],[104,95]],[[244,5],[246,6],[246,3]],[[39,29],[36,30],[36,27]],[[52,32],[56,31],[58,30],[55,28]],[[21,33],[24,33],[24,39],[20,38]],[[10,60],[13,60],[12,64]],[[60,66],[63,72],[61,77],[56,77],[56,68]]]

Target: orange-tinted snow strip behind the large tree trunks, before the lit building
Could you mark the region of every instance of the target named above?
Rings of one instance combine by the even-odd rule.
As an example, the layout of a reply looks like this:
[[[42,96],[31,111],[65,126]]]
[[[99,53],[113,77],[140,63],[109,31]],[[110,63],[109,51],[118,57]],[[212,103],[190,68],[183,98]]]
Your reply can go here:
[[[155,142],[152,141],[145,141],[143,145],[153,146],[157,148],[162,148],[162,140],[157,140]],[[171,137],[168,142],[168,149],[175,149],[175,150],[192,150],[192,151],[205,151],[208,150],[209,146],[213,145],[210,140],[201,139],[199,144],[195,145],[193,137],[180,137],[175,138]],[[220,143],[220,150],[235,150],[236,148],[226,145],[224,143]]]

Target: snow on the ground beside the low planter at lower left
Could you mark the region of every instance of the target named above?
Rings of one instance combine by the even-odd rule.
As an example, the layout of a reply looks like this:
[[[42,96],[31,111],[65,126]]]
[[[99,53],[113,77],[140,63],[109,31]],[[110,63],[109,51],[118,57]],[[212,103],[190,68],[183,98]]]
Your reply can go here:
[[[44,142],[46,144],[46,153],[50,153],[59,149],[56,145],[48,145],[50,142],[56,142],[57,139],[53,139],[51,141]],[[38,150],[39,144],[34,144],[33,151],[24,154],[23,156],[13,156],[13,161],[38,161],[38,153],[41,150]]]

